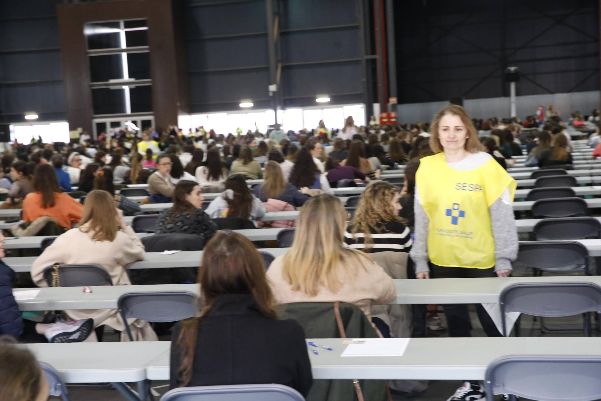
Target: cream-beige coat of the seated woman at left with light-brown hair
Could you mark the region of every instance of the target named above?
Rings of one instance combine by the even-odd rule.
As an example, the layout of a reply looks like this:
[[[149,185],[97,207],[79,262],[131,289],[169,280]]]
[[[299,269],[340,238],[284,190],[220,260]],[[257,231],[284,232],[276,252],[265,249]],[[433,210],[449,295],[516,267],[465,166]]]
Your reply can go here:
[[[85,227],[85,225],[84,225]],[[144,245],[130,226],[118,231],[114,241],[92,241],[91,232],[73,228],[60,235],[31,265],[31,278],[39,287],[47,287],[44,269],[54,263],[99,264],[111,275],[113,285],[132,285],[124,266],[144,260]],[[68,319],[94,319],[94,327],[108,325],[121,331],[121,341],[127,340],[123,319],[117,309],[63,311]],[[136,341],[156,341],[158,338],[148,322],[131,319],[130,330]],[[95,337],[95,335],[91,335]]]

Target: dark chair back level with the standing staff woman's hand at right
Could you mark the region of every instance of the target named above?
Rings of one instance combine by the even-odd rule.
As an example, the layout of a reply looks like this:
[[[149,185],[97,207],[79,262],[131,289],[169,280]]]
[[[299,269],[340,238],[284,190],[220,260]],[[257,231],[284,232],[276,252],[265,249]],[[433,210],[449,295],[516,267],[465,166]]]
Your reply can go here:
[[[590,275],[588,249],[578,241],[521,241],[513,266]]]

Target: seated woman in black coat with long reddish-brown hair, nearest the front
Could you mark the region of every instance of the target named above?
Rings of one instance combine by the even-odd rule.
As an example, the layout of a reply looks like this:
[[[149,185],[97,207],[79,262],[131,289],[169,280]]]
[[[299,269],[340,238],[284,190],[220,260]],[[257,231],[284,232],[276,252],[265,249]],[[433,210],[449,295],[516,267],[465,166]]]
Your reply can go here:
[[[251,241],[235,232],[215,234],[204,248],[198,282],[200,317],[173,329],[171,388],[275,383],[307,396],[313,378],[305,332],[294,320],[277,319],[263,259]]]

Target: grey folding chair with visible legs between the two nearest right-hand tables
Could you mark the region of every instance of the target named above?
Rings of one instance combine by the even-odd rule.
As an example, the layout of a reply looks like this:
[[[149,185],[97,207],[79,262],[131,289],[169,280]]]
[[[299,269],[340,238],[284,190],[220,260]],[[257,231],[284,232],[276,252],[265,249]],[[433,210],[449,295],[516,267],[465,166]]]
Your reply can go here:
[[[538,317],[563,317],[584,314],[584,335],[591,335],[587,312],[601,312],[601,287],[590,282],[517,283],[505,287],[499,297],[502,334],[508,337],[505,312],[520,312]],[[519,331],[516,329],[516,337]]]

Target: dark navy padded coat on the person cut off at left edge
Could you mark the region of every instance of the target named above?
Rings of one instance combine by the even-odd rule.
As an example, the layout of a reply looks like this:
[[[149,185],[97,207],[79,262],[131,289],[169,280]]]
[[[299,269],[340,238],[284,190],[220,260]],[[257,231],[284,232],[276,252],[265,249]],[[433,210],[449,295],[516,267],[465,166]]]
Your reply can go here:
[[[18,338],[23,334],[23,319],[13,297],[15,277],[13,269],[0,261],[0,334]]]

